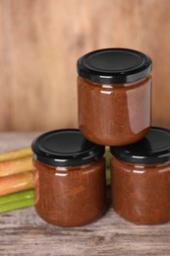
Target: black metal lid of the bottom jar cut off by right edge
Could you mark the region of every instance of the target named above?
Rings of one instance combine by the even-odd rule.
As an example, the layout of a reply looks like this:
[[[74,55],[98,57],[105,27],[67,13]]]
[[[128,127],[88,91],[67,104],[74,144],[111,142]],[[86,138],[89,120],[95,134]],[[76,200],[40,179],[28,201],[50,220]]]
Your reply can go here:
[[[151,127],[140,141],[123,147],[111,147],[113,156],[134,163],[159,163],[170,160],[170,130]]]

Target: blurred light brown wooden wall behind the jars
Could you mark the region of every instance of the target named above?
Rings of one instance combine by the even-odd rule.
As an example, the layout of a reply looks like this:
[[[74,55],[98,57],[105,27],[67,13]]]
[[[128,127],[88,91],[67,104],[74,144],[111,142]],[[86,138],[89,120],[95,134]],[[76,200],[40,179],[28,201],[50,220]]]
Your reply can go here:
[[[77,126],[77,59],[130,47],[153,60],[152,124],[170,128],[169,0],[0,0],[0,131]]]

